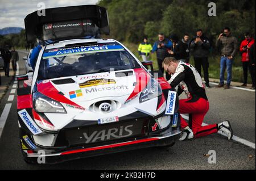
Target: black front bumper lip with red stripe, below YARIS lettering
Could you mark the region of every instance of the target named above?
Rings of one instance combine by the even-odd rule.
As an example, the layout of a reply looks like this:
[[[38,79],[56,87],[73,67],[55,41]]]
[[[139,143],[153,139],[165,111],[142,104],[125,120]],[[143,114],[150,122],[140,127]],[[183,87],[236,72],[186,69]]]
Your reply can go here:
[[[45,157],[45,163],[54,164],[65,162],[73,159],[93,157],[96,155],[104,155],[111,153],[118,153],[122,151],[129,151],[135,149],[150,148],[155,146],[168,146],[174,144],[177,139],[179,139],[181,134],[181,128],[177,127],[175,130],[172,128],[166,129],[164,132],[160,133],[159,136],[150,136],[147,138],[134,139],[133,141],[117,142],[115,144],[94,146],[90,148],[84,148],[84,146],[79,146],[77,148],[67,148],[59,153],[47,154],[46,148],[40,148],[38,153],[32,153],[31,151],[23,150],[25,155],[25,160],[30,163],[38,163],[38,158]],[[46,154],[44,154],[46,153]]]

